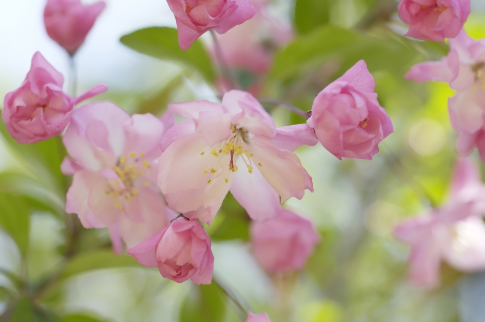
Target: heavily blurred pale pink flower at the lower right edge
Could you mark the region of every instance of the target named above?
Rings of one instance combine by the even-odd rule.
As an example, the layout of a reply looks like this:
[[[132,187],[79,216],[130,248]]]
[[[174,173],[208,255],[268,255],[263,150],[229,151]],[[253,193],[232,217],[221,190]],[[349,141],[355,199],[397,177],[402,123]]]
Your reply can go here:
[[[485,268],[484,205],[485,186],[476,165],[459,160],[447,204],[395,228],[395,236],[411,246],[411,282],[436,287],[443,260],[463,272]]]

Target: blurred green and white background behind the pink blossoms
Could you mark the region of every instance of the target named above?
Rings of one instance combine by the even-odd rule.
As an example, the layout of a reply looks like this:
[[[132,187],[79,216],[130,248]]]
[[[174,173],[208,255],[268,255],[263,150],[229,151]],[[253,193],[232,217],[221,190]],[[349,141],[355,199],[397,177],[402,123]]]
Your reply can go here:
[[[120,42],[144,27],[175,27],[166,1],[105,1],[76,56],[78,93],[106,83],[110,90],[97,100],[156,115],[170,102],[218,99],[224,80],[211,82],[190,65]],[[252,311],[268,312],[272,322],[485,321],[485,274],[463,276],[443,265],[439,289],[415,288],[406,281],[409,249],[391,235],[397,223],[430,206],[424,192],[436,204],[446,197],[456,157],[447,112],[453,91],[443,83],[404,80],[404,74],[420,61],[440,59],[447,45],[402,37],[406,26],[393,0],[257,2],[263,15],[256,25],[220,38],[226,53],[243,50],[230,41],[238,32],[246,36],[242,44],[264,51],[259,67],[229,58],[245,89],[307,111],[328,83],[364,59],[395,132],[373,161],[339,161],[320,144],[297,150],[315,192],[286,207],[310,219],[322,236],[301,272],[264,272],[248,244],[247,214],[229,195],[206,226],[218,283]],[[465,28],[483,38],[485,0],[471,3]],[[20,85],[36,51],[68,80],[65,51],[44,28],[44,6],[43,0],[0,1],[0,97]],[[202,41],[210,53],[207,36]],[[305,121],[282,107],[265,107],[277,126]],[[0,138],[0,222],[8,228],[0,230],[0,314],[16,297],[15,321],[240,321],[218,289],[164,280],[128,255],[113,255],[106,229],[83,229],[70,245],[55,145],[25,147]],[[68,246],[73,253],[66,253]]]

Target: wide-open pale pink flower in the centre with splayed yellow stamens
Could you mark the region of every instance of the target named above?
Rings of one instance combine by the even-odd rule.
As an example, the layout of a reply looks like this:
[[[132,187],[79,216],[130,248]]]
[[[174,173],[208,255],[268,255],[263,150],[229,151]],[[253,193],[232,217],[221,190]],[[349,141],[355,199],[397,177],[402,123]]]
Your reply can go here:
[[[208,223],[230,189],[243,206],[254,205],[252,218],[263,219],[277,214],[264,206],[267,186],[281,202],[313,191],[292,152],[317,143],[306,124],[276,129],[256,98],[242,91],[227,92],[222,104],[198,101],[169,109],[189,119],[168,130],[161,143],[157,180],[170,208]]]

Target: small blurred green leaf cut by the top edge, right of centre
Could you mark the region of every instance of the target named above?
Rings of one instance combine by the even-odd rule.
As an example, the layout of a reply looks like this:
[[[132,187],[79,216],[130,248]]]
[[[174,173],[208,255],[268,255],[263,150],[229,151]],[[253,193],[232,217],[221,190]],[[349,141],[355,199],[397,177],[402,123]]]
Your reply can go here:
[[[331,0],[296,0],[295,27],[300,33],[311,32],[330,21]]]

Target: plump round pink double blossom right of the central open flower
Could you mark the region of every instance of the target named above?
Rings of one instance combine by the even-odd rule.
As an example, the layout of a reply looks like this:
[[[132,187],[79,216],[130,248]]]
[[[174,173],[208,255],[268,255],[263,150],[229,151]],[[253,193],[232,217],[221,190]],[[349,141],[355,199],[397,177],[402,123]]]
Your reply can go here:
[[[318,140],[339,158],[367,159],[394,129],[374,93],[375,82],[364,61],[317,95],[307,124]]]

